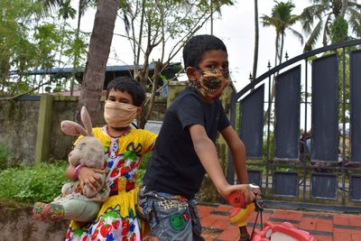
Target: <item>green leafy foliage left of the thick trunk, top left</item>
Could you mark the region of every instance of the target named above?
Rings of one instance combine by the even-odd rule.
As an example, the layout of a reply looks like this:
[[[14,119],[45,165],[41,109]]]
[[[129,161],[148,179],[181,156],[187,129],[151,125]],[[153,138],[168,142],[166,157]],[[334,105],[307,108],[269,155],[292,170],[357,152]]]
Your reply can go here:
[[[42,85],[63,87],[58,78],[35,79],[27,73],[61,68],[75,55],[78,63],[85,60],[88,35],[80,32],[78,38],[69,23],[60,23],[60,18],[74,16],[69,4],[66,1],[59,13],[51,13],[42,1],[0,1],[0,88],[3,95],[14,96]],[[16,71],[17,75],[10,76],[11,71]]]

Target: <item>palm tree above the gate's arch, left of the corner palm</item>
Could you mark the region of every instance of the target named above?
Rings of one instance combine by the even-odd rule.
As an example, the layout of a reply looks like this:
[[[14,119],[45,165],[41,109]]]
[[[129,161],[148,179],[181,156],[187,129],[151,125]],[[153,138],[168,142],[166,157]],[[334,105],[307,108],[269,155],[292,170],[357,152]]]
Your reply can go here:
[[[279,63],[282,63],[282,51],[286,30],[291,31],[298,37],[302,44],[303,37],[300,32],[291,28],[291,26],[300,19],[299,15],[292,14],[295,5],[293,5],[292,2],[283,3],[274,1],[274,3],[275,5],[273,6],[271,16],[263,15],[261,19],[264,26],[273,26],[276,30],[276,53],[274,58],[274,66],[276,66],[278,64],[277,60],[279,60]]]

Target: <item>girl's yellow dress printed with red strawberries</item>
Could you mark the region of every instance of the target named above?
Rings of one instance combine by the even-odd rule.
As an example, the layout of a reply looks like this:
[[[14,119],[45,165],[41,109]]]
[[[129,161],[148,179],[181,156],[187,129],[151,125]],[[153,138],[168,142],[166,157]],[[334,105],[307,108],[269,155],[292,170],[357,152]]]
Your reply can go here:
[[[141,240],[141,223],[135,213],[135,181],[142,155],[152,151],[156,135],[132,129],[112,138],[106,134],[106,126],[93,128],[93,134],[106,153],[104,170],[110,195],[91,224],[71,221],[65,240]]]

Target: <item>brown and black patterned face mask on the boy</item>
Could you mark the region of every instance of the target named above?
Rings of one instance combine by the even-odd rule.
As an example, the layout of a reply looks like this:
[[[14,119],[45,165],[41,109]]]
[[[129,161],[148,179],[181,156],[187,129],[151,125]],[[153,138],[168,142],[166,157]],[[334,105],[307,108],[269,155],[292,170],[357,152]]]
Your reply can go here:
[[[206,99],[217,99],[228,86],[228,70],[208,69],[202,71],[199,92]]]

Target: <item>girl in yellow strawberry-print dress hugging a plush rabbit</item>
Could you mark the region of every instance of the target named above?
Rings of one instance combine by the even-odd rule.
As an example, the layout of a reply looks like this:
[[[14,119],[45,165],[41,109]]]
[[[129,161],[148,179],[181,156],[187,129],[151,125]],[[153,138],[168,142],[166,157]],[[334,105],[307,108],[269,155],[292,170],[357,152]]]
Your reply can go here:
[[[130,125],[141,112],[144,99],[145,90],[134,79],[118,77],[108,84],[106,125],[93,128],[94,136],[104,147],[105,166],[103,170],[93,170],[70,165],[65,174],[70,180],[79,179],[95,189],[97,172],[105,172],[110,194],[90,224],[70,223],[66,240],[142,240],[141,224],[135,216],[135,182],[142,156],[153,150],[156,134]]]

